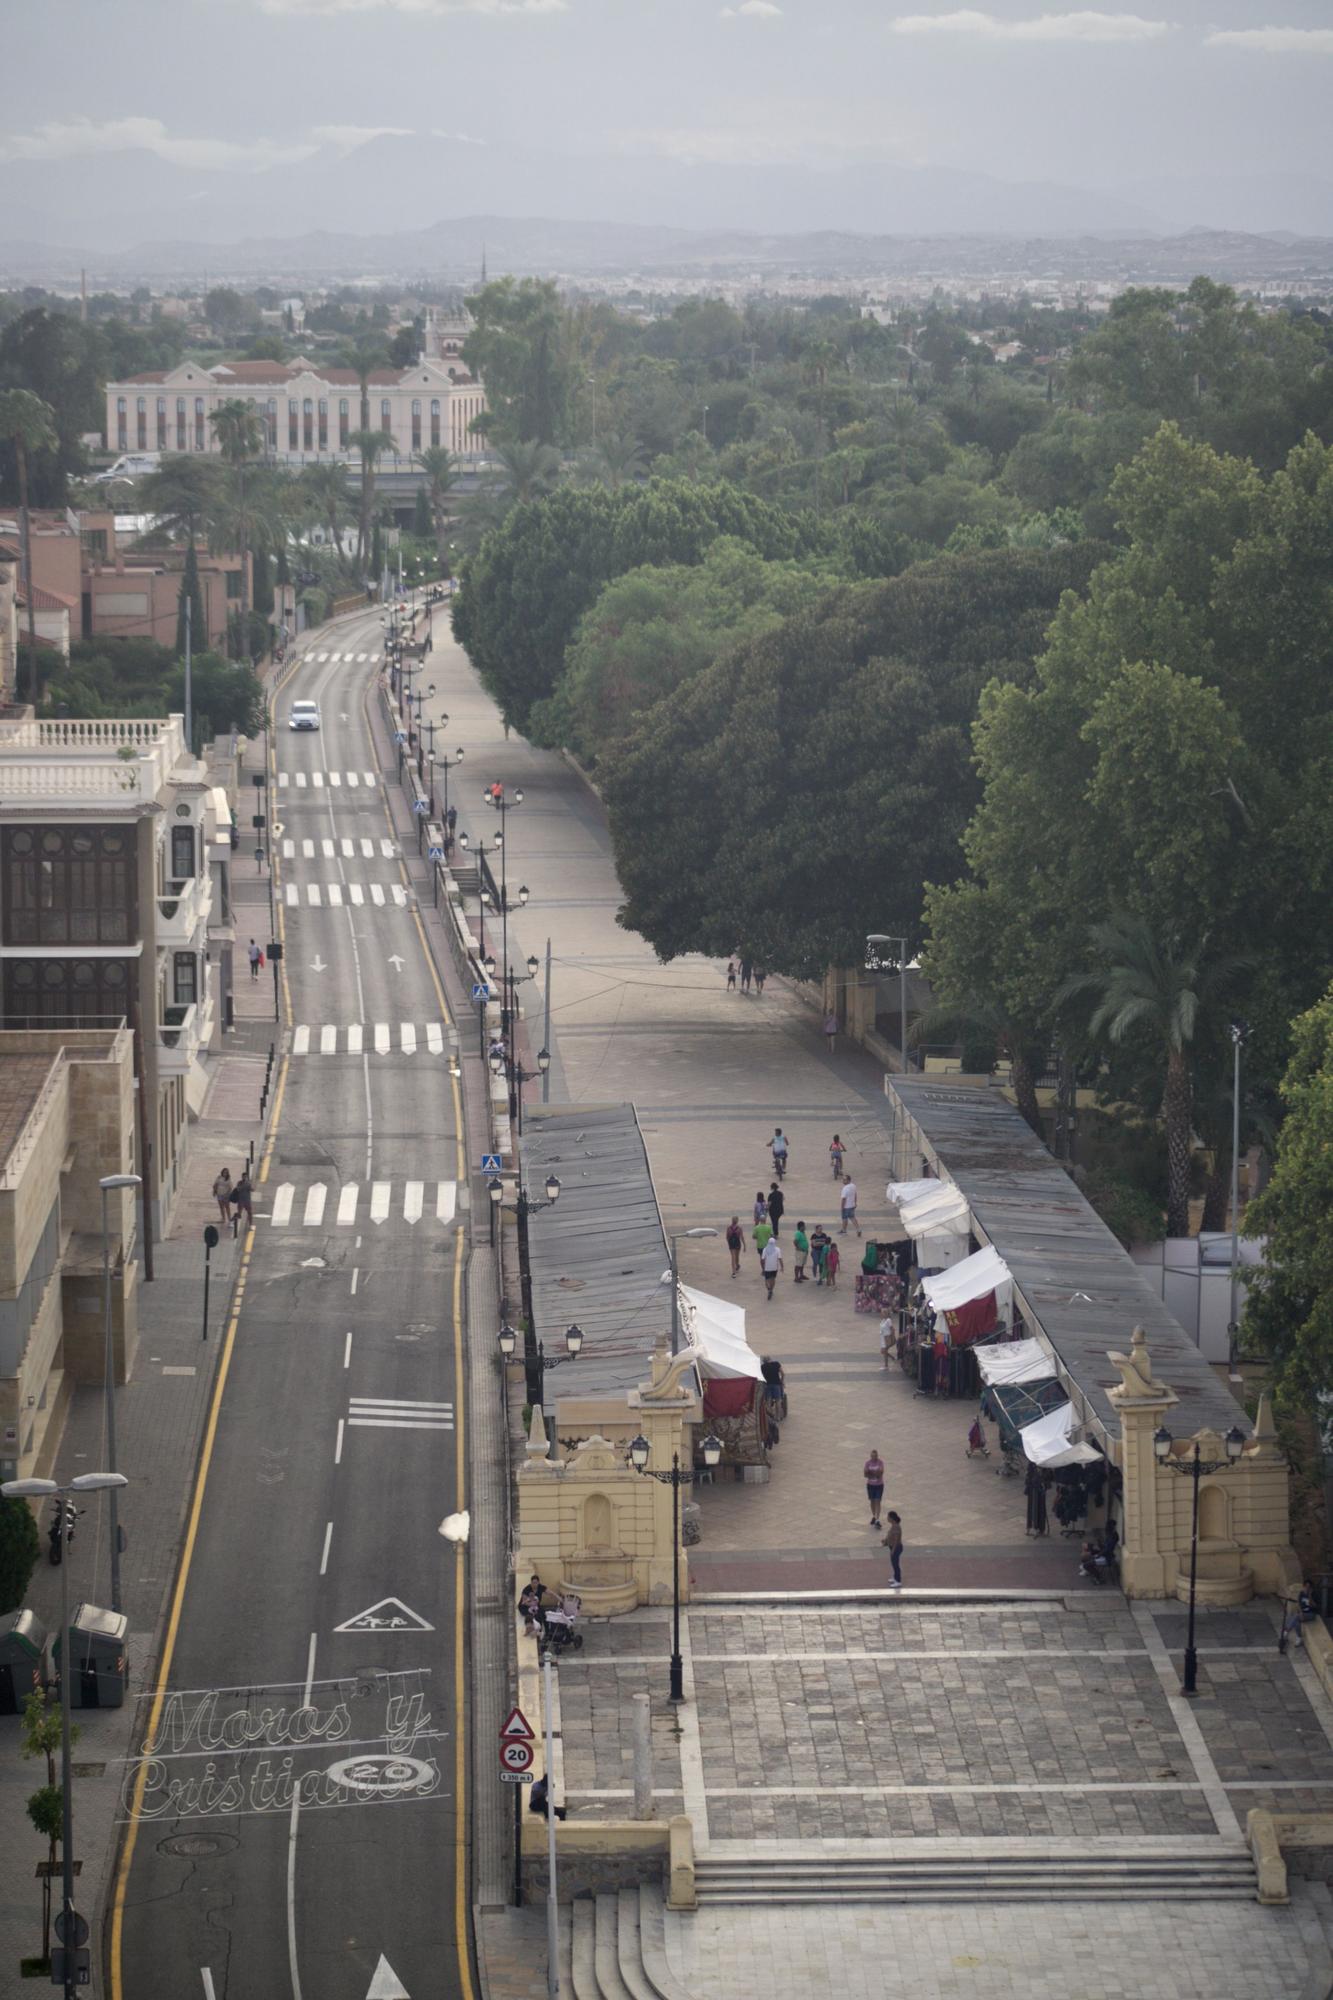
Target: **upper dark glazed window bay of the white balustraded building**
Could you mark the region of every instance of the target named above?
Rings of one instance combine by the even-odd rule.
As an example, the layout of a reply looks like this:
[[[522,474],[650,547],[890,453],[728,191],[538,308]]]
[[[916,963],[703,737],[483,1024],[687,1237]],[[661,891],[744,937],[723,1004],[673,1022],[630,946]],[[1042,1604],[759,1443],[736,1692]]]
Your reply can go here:
[[[132,944],[134,846],[120,826],[4,828],[6,944]]]

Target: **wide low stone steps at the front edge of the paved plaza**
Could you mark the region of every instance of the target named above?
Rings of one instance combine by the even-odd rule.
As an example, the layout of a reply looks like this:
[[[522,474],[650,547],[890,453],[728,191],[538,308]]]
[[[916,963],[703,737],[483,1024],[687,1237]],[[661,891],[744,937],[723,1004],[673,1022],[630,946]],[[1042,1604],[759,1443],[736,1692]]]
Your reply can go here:
[[[865,1848],[747,1848],[695,1862],[701,1904],[799,1902],[1255,1902],[1245,1846],[1225,1840],[905,1840]]]

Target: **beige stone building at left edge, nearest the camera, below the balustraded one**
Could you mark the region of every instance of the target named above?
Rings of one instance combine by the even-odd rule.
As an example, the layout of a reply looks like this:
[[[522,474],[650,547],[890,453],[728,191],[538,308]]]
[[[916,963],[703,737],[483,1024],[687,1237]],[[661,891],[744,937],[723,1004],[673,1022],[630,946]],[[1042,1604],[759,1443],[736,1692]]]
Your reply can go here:
[[[102,1382],[104,1174],[134,1174],[134,1038],[0,1030],[0,1480],[46,1476],[78,1382]],[[106,1202],[112,1362],[138,1332],[134,1192]]]

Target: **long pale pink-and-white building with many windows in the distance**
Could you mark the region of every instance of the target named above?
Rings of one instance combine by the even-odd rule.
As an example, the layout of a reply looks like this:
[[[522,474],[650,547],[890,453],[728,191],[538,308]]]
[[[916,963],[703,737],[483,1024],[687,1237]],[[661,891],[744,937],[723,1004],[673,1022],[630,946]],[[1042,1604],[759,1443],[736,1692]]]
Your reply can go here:
[[[470,426],[486,408],[486,394],[462,358],[468,332],[466,314],[428,306],[416,362],[370,374],[366,428],[384,432],[398,458],[412,458],[430,444],[444,444],[460,458],[480,454],[482,440]],[[108,382],[106,446],[114,452],[216,452],[208,418],[232,400],[254,406],[266,452],[280,464],[356,458],[350,438],[362,428],[358,376],[352,368],[306,358],[216,368],[186,360]]]

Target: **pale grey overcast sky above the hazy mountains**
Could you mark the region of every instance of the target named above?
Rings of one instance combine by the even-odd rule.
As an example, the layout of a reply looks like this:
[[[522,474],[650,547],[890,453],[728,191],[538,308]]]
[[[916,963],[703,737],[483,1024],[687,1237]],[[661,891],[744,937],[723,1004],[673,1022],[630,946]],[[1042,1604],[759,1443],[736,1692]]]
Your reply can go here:
[[[1007,180],[1333,178],[1333,0],[10,0],[2,158],[372,128]]]

